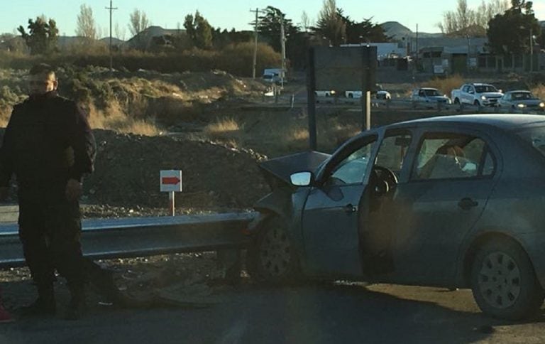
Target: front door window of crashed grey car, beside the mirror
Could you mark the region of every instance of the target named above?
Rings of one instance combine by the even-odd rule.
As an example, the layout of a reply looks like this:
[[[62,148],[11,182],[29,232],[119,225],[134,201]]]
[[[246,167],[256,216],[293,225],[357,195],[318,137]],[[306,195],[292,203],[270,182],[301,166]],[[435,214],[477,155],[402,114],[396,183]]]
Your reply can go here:
[[[357,184],[363,182],[375,141],[353,151],[338,163],[328,178],[329,185]]]

